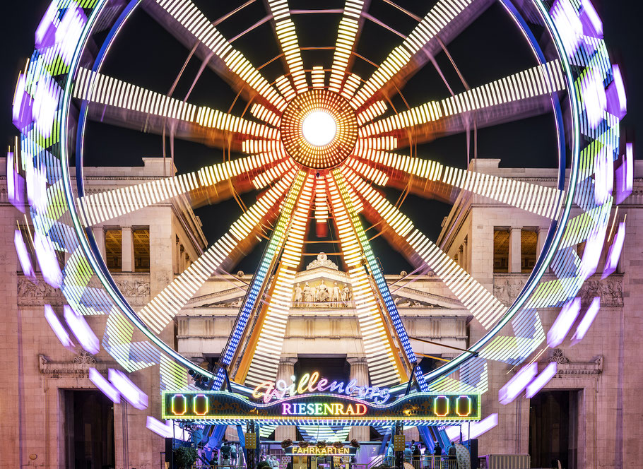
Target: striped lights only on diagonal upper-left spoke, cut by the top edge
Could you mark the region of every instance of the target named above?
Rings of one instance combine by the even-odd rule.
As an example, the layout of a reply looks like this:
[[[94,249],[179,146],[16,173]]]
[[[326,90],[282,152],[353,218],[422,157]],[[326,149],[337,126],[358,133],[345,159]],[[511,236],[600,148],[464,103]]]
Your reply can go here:
[[[266,78],[261,76],[261,73],[250,64],[248,59],[232,47],[232,44],[221,35],[211,20],[208,20],[196,5],[190,0],[157,0],[157,3],[167,13],[170,13],[177,23],[223,60],[228,69],[236,73],[250,88],[264,97],[276,109],[283,110],[286,105],[285,100],[276,93]]]

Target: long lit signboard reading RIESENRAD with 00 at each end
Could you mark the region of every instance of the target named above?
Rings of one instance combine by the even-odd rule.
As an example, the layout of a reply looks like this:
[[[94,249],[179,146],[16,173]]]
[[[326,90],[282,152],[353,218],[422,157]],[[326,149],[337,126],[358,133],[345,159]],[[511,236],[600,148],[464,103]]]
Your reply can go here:
[[[408,425],[442,425],[480,420],[477,393],[413,393],[386,404],[342,394],[309,393],[270,403],[254,403],[221,391],[163,392],[163,418],[207,420],[239,425],[261,420],[273,425],[374,425],[402,421]]]

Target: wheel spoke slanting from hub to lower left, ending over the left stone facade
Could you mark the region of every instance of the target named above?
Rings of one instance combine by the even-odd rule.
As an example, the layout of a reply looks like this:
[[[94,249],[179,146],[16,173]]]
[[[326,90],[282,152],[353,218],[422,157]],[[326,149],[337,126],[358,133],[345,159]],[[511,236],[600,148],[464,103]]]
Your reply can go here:
[[[278,202],[288,192],[294,178],[295,170],[291,170],[260,196],[232,223],[223,237],[141,309],[138,313],[141,320],[156,333],[163,331],[213,273],[219,269],[225,270],[258,242],[263,222],[274,218]]]

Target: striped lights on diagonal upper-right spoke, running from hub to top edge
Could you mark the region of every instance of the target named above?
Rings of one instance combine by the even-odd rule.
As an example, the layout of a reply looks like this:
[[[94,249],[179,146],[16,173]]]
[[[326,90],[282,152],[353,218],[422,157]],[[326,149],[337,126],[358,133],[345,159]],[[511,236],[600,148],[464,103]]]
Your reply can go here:
[[[464,8],[470,5],[472,0],[440,0],[431,11],[413,28],[411,34],[404,42],[393,49],[389,57],[377,67],[371,78],[351,100],[351,105],[357,109],[361,107],[370,97],[401,71],[403,66],[411,61],[413,54],[424,47],[432,40],[446,25],[452,22]]]

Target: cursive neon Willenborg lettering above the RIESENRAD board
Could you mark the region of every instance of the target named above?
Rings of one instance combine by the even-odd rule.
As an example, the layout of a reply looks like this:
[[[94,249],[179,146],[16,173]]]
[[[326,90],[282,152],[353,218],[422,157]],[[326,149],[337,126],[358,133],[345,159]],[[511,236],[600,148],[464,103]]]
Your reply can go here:
[[[319,379],[319,373],[304,374],[299,383],[295,385],[293,382],[286,384],[283,379],[277,381],[264,381],[254,388],[252,397],[255,399],[263,398],[264,403],[269,403],[274,398],[281,400],[287,396],[299,396],[305,393],[319,393],[329,392],[336,394],[344,394],[346,396],[356,396],[360,399],[370,399],[376,404],[384,404],[391,397],[388,388],[379,388],[377,386],[358,386],[357,379],[351,379],[348,384],[344,386],[343,381],[333,381],[329,384],[328,379]]]

